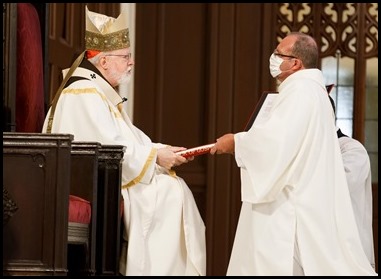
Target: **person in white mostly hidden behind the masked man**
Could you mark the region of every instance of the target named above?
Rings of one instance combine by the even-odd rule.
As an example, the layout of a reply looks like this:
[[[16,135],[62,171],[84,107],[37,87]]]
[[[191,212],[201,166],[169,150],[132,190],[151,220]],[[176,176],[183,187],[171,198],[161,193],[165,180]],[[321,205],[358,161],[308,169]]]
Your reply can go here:
[[[335,101],[328,95],[333,112],[336,115]],[[343,134],[336,127],[340,151],[347,183],[351,196],[353,211],[361,243],[373,268],[375,268],[374,241],[373,241],[373,197],[372,173],[370,159],[365,147],[358,140]]]

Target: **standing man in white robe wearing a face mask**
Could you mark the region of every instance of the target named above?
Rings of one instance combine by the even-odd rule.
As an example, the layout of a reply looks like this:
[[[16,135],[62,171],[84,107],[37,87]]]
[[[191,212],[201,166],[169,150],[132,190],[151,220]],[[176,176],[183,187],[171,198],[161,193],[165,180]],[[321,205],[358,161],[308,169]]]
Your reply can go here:
[[[227,275],[377,275],[361,246],[318,46],[291,33],[270,57],[279,94],[247,132],[218,138],[233,154],[242,207]]]

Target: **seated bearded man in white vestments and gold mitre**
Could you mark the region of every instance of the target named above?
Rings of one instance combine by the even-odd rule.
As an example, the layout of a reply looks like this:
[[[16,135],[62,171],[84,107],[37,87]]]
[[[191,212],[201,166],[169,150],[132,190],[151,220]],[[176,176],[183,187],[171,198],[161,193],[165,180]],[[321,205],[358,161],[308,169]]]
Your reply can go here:
[[[43,132],[75,141],[126,146],[122,162],[122,275],[205,275],[205,224],[193,194],[172,167],[193,160],[185,150],[153,143],[131,123],[116,87],[131,75],[127,15],[86,7],[86,50],[69,70],[46,116]]]

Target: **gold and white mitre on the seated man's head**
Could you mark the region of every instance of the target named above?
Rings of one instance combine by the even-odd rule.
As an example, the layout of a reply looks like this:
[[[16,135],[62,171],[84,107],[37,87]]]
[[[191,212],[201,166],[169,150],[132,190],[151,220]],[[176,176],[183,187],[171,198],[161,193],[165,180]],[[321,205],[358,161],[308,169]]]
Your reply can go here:
[[[127,13],[118,18],[89,11],[86,6],[86,50],[111,51],[130,47]]]

